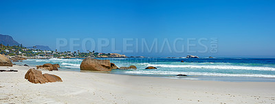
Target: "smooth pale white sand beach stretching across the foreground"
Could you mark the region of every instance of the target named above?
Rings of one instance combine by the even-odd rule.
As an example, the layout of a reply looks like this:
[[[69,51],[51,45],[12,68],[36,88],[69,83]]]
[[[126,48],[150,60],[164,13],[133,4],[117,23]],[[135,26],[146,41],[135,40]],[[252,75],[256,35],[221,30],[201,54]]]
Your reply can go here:
[[[274,82],[221,82],[43,71],[63,82],[24,79],[33,67],[0,73],[0,103],[275,103]]]

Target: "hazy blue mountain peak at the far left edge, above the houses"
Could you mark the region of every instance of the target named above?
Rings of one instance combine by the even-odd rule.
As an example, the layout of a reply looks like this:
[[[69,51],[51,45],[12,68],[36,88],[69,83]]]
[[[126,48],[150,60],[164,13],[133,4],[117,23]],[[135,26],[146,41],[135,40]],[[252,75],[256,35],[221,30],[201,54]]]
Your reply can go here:
[[[20,45],[17,41],[13,40],[12,36],[2,35],[2,34],[0,34],[0,44],[3,44],[5,46]]]

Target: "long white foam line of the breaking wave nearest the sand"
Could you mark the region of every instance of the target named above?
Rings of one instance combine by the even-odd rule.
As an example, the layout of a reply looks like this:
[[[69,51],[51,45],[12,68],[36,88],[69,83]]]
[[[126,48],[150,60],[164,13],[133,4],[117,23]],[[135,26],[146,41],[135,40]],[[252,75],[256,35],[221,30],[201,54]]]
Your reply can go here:
[[[260,75],[260,74],[228,74],[228,73],[195,73],[195,72],[171,72],[171,71],[153,71],[153,70],[136,70],[125,71],[126,74],[143,74],[143,75],[203,75],[203,76],[225,76],[225,77],[269,77],[275,78],[275,75]]]

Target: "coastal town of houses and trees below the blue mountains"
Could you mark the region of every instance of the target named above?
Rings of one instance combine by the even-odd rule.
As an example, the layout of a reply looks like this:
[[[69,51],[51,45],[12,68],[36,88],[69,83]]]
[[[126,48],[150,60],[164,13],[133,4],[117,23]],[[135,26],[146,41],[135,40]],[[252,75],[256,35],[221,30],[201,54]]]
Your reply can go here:
[[[118,53],[98,53],[95,51],[89,51],[87,50],[86,53],[80,52],[80,51],[48,51],[48,50],[40,50],[35,49],[35,47],[28,49],[26,47],[23,47],[21,45],[17,46],[9,46],[9,45],[3,45],[0,44],[1,50],[0,53],[2,55],[7,56],[21,56],[21,57],[28,57],[28,58],[41,58],[41,59],[47,59],[47,58],[82,58],[82,57],[126,57],[126,55],[120,55]]]

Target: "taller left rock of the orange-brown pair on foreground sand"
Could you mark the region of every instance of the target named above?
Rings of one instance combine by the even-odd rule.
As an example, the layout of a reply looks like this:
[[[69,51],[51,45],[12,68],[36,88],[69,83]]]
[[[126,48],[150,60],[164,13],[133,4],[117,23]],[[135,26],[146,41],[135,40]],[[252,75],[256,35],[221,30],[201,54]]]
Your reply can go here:
[[[28,79],[28,81],[32,83],[47,83],[47,79],[43,77],[41,70],[35,70],[34,68],[31,68],[28,70],[28,72],[25,74],[25,79]]]

